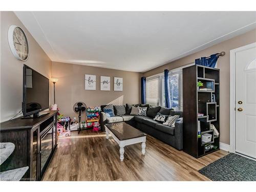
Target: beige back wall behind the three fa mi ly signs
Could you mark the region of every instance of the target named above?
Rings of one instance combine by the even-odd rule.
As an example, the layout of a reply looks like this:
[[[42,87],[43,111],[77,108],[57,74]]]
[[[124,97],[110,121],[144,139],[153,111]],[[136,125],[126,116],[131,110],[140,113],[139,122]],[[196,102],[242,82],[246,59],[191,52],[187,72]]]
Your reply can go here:
[[[84,90],[85,74],[96,75],[95,91]],[[55,94],[60,113],[72,118],[77,117],[73,112],[77,101],[83,101],[87,106],[100,106],[123,96],[123,103],[140,102],[140,73],[52,62],[52,76],[58,78]],[[100,91],[100,76],[111,77],[111,91]],[[123,78],[122,92],[113,91],[114,77]]]

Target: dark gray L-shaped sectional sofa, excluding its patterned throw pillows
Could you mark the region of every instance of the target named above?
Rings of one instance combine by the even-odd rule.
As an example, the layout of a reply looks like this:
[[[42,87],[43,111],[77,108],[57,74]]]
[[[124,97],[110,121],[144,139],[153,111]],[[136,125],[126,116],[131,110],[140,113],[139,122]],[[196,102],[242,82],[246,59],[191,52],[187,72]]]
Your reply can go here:
[[[183,146],[182,111],[175,111],[173,109],[167,109],[167,108],[162,108],[158,106],[153,113],[152,113],[152,110],[150,110],[151,113],[147,113],[147,116],[122,115],[122,116],[107,117],[106,114],[103,112],[104,106],[106,105],[101,105],[101,113],[100,113],[100,125],[101,125],[102,131],[105,131],[105,123],[125,121],[126,123],[137,128],[138,130],[146,134],[149,134],[170,146],[177,148],[177,150],[182,150],[182,146]],[[158,112],[163,115],[172,115],[172,116],[179,115],[180,118],[175,122],[175,127],[170,127],[168,125],[159,123],[158,121],[155,121],[153,119],[155,117],[155,114]]]

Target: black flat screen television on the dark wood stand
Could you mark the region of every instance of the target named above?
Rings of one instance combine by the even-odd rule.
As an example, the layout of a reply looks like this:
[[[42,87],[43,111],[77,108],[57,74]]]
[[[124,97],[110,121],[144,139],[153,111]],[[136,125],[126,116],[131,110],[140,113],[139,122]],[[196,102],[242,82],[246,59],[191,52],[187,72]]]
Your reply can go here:
[[[24,65],[23,116],[39,117],[39,112],[49,108],[49,79]]]

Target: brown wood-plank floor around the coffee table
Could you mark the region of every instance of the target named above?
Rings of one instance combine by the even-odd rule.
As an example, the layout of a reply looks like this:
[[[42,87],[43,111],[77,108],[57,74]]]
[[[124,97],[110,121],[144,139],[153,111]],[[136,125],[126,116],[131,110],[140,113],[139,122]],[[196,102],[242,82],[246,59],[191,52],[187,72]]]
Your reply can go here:
[[[58,148],[44,181],[208,181],[198,170],[225,156],[217,151],[196,159],[151,137],[146,138],[146,154],[141,144],[125,146],[119,160],[119,146],[104,132],[76,131],[59,138]]]

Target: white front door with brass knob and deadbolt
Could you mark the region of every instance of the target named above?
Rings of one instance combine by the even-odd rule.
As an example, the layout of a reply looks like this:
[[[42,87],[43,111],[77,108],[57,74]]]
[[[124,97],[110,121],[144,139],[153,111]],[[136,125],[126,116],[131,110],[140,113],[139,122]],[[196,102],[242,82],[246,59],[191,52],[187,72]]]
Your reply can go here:
[[[256,46],[236,52],[237,153],[256,158]]]

